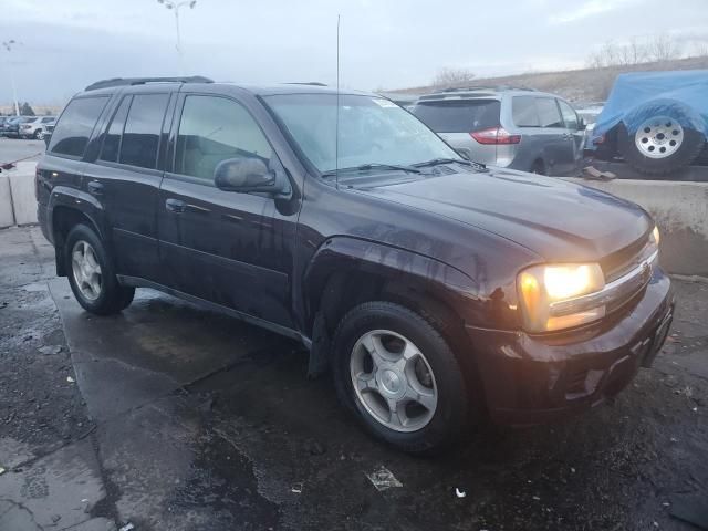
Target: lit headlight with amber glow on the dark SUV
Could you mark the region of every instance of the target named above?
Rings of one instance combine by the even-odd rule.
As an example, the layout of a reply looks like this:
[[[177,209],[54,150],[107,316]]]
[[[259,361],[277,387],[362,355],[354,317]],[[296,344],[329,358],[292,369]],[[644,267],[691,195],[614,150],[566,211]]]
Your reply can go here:
[[[528,332],[552,332],[605,316],[604,304],[585,308],[572,303],[605,287],[597,263],[534,266],[519,274],[517,285]]]

